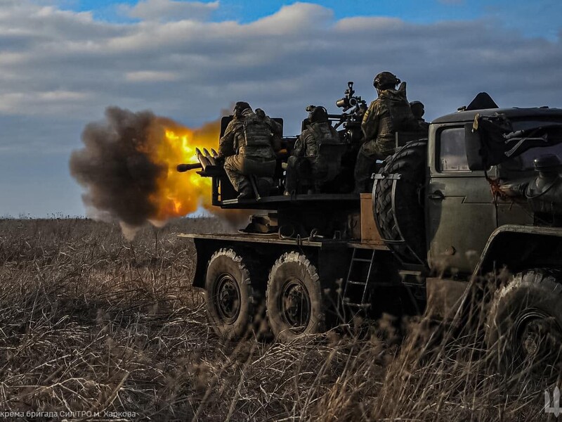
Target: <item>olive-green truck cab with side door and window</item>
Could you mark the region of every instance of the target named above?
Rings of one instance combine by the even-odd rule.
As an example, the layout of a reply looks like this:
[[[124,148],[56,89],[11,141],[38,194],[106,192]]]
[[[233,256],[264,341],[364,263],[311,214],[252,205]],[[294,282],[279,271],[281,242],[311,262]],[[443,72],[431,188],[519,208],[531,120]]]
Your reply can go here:
[[[473,135],[475,119],[497,116],[509,121],[515,132],[562,124],[562,110],[549,108],[462,111],[432,122],[425,207],[428,262],[452,276],[473,274],[497,229],[536,223],[526,198],[502,195],[499,184],[529,181],[535,177],[533,160],[546,154],[562,156],[562,143],[551,131],[551,138],[544,141],[532,141],[532,135],[514,139],[510,146],[522,141],[519,150],[502,154],[501,162],[470,163],[467,148],[484,148]],[[532,145],[525,146],[525,137]]]

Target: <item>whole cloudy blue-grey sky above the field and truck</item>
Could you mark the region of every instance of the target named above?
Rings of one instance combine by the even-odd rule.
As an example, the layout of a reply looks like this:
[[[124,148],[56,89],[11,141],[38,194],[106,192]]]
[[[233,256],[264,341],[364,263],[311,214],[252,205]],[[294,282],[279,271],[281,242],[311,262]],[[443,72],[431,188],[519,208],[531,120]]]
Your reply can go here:
[[[68,158],[106,106],[190,127],[237,100],[285,118],[374,98],[391,70],[431,120],[488,91],[562,107],[560,0],[0,0],[0,217],[83,215]]]

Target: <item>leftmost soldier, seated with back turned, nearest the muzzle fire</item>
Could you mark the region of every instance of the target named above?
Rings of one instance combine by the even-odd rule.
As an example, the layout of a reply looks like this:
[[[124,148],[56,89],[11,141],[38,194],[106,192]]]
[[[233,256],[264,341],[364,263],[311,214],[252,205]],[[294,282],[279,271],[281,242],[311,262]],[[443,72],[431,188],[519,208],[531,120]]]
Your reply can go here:
[[[239,193],[238,199],[252,195],[249,176],[257,177],[260,193],[269,193],[275,173],[276,142],[281,139],[281,125],[263,110],[254,113],[248,103],[239,101],[218,146],[228,179]]]

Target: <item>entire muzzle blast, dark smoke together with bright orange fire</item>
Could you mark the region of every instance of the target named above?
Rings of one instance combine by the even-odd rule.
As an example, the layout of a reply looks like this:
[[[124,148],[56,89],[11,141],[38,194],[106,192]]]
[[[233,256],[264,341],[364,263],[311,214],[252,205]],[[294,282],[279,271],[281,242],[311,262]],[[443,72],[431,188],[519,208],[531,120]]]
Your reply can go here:
[[[176,172],[182,162],[197,162],[196,147],[216,148],[219,134],[219,120],[190,129],[150,111],[107,108],[103,121],[86,125],[84,148],[70,156],[88,216],[118,222],[129,239],[143,224],[161,227],[199,207],[233,225],[247,220],[246,210],[211,205],[210,179]]]

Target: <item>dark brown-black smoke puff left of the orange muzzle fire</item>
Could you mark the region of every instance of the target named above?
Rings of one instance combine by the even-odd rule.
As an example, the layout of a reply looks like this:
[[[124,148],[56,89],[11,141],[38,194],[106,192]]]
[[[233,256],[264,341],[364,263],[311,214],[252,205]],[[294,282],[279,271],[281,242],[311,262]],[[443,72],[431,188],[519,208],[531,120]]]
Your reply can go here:
[[[154,133],[155,119],[150,111],[109,107],[103,122],[84,128],[84,148],[70,156],[70,173],[86,188],[82,198],[90,217],[117,219],[125,232],[156,214],[150,195],[167,168],[150,160],[162,136]]]

